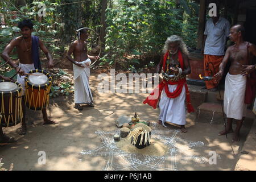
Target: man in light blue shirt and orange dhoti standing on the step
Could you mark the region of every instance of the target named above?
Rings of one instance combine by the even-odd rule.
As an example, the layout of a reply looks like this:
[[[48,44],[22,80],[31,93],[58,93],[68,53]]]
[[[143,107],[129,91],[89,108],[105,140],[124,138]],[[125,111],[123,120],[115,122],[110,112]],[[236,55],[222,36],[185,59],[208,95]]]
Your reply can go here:
[[[230,24],[228,20],[220,17],[220,10],[217,5],[217,16],[207,20],[204,31],[204,75],[212,76],[218,72],[218,67],[225,55],[226,38],[229,36]],[[214,73],[212,73],[214,72]],[[217,91],[217,84],[214,81],[205,81],[210,91]]]

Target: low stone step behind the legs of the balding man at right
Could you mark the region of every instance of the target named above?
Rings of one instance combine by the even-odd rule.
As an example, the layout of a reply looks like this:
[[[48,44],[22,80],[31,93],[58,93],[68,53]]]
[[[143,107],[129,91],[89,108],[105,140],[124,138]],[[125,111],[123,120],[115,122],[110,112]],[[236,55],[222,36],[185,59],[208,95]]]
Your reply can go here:
[[[197,107],[197,121],[220,124],[224,123],[224,115],[222,106],[218,103],[204,102]],[[225,116],[226,119],[226,116]],[[255,119],[255,114],[252,110],[246,110],[246,119]]]

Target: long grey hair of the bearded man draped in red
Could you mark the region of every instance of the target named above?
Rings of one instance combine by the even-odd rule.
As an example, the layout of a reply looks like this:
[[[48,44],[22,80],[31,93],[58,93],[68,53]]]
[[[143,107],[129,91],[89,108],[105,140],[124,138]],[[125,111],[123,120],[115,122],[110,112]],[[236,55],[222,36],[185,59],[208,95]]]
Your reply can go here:
[[[169,49],[169,44],[177,42],[179,44],[179,49],[182,53],[188,55],[188,49],[186,44],[183,42],[180,36],[172,35],[166,39],[166,42],[164,43],[163,53],[166,53]]]

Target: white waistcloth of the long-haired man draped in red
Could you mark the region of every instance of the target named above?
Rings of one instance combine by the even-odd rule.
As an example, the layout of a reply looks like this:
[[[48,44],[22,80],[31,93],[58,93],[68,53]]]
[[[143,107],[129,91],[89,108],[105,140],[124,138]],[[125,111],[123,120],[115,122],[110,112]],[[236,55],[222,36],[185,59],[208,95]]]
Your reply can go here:
[[[174,92],[177,85],[168,85],[169,92]],[[177,125],[185,125],[186,123],[186,109],[185,109],[185,86],[183,86],[180,95],[176,98],[169,98],[163,89],[161,99],[159,101],[160,115],[159,120],[164,122],[168,121]]]

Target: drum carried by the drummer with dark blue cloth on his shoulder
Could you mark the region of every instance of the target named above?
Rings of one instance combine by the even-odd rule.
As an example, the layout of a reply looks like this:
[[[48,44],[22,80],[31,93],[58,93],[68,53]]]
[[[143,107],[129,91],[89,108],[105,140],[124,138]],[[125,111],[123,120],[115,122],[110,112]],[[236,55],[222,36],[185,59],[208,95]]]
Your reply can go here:
[[[25,77],[25,85],[25,103],[29,109],[42,110],[49,104],[52,77],[48,72],[40,69],[31,70]]]

